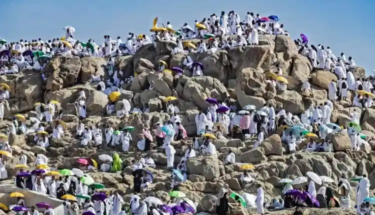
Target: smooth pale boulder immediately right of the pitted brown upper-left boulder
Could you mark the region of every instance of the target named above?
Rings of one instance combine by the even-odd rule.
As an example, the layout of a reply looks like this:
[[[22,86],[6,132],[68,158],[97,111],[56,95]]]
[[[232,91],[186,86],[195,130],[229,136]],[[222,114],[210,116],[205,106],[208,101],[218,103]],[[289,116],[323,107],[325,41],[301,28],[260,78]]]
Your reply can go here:
[[[81,58],[80,68],[80,82],[85,83],[91,78],[92,75],[103,75],[106,74],[106,60],[102,57],[86,56]]]

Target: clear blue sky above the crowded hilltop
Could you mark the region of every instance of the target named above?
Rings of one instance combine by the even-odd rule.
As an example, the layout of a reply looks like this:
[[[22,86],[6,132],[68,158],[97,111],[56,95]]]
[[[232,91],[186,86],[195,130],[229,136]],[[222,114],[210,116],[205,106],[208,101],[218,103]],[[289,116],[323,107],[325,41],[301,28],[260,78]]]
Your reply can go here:
[[[77,39],[98,42],[104,34],[149,33],[155,16],[160,25],[169,20],[178,29],[213,12],[234,10],[244,19],[250,11],[277,15],[293,39],[304,33],[309,43],[330,46],[337,56],[344,52],[372,74],[374,8],[375,0],[1,0],[0,37],[47,40],[65,35],[62,27],[71,25]]]

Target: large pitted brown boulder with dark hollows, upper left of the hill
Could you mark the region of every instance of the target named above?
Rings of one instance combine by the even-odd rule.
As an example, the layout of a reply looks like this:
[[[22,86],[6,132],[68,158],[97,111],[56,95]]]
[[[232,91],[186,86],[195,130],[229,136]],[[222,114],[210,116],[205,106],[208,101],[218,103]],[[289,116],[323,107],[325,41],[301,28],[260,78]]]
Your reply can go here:
[[[58,90],[78,81],[81,61],[78,56],[55,56],[44,68],[47,76],[47,90]]]

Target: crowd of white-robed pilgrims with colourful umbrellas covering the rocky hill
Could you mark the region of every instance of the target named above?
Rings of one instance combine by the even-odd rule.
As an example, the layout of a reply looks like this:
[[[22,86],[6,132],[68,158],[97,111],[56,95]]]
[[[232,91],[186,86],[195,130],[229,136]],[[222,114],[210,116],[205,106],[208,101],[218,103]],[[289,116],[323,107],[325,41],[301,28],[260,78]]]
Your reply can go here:
[[[193,76],[202,76],[203,65],[199,62],[193,62],[187,54],[190,51],[204,52],[212,54],[219,49],[229,49],[236,46],[257,45],[259,43],[259,34],[274,34],[287,35],[289,33],[283,30],[283,25],[278,23],[278,17],[260,17],[259,14],[248,12],[243,21],[240,21],[239,15],[234,11],[228,14],[221,12],[217,17],[211,14],[209,18],[204,18],[198,22],[195,20],[194,27],[190,27],[187,23],[182,24],[178,30],[174,30],[170,22],[166,26],[156,27],[150,29],[153,33],[151,37],[145,34],[135,35],[129,33],[126,41],[122,42],[121,37],[112,39],[110,35],[104,35],[103,43],[96,44],[93,39],[87,42],[82,42],[74,38],[73,33],[75,29],[71,26],[64,27],[65,36],[61,38],[53,38],[51,40],[43,41],[40,38],[31,41],[19,40],[18,42],[6,43],[4,39],[0,39],[0,74],[18,73],[23,69],[33,69],[41,73],[45,80],[44,67],[54,55],[75,55],[75,56],[98,56],[105,57],[107,60],[107,72],[111,77],[107,80],[103,76],[91,75],[90,82],[97,83],[97,90],[104,92],[111,96],[112,93],[121,91],[123,83],[129,83],[137,74],[134,73],[126,78],[122,78],[123,73],[119,68],[114,66],[114,58],[121,55],[134,54],[141,46],[152,43],[155,47],[157,41],[172,40],[176,42],[171,54],[183,53],[183,65],[191,70]],[[224,37],[228,36],[228,37]],[[225,38],[225,39],[224,39]],[[302,37],[301,37],[302,38]],[[200,39],[197,45],[191,42],[184,42],[188,39]],[[208,40],[206,40],[208,39]],[[214,98],[207,98],[206,102],[209,107],[203,111],[199,111],[195,116],[196,136],[192,138],[193,144],[190,146],[184,145],[182,147],[182,159],[175,162],[174,154],[176,150],[170,144],[173,140],[180,140],[187,138],[187,132],[184,129],[181,118],[179,116],[179,108],[174,104],[171,98],[165,100],[163,103],[163,110],[170,114],[170,120],[166,124],[157,122],[152,128],[144,128],[140,134],[136,144],[139,151],[149,152],[151,142],[153,141],[151,131],[156,132],[156,148],[166,154],[168,169],[172,170],[170,176],[170,190],[178,191],[178,185],[183,183],[188,178],[186,170],[186,160],[196,155],[217,155],[216,147],[214,145],[215,139],[225,139],[228,137],[246,139],[255,137],[254,149],[262,144],[263,140],[277,133],[280,135],[282,143],[286,144],[287,152],[293,154],[296,150],[305,150],[307,152],[313,151],[333,151],[332,142],[325,141],[325,136],[328,133],[334,132],[348,132],[351,140],[351,149],[358,150],[361,144],[368,144],[366,136],[360,133],[359,117],[360,114],[355,111],[355,108],[350,110],[350,122],[344,125],[337,125],[330,122],[331,111],[333,110],[333,103],[337,100],[346,100],[352,103],[352,106],[369,107],[372,105],[372,99],[375,97],[372,94],[374,78],[372,76],[354,79],[352,69],[355,68],[355,62],[352,57],[346,57],[344,53],[336,57],[329,47],[324,48],[323,45],[307,45],[307,41],[302,38],[294,40],[298,46],[299,53],[308,57],[313,67],[313,72],[318,70],[328,70],[337,76],[337,80],[332,80],[328,87],[328,99],[319,105],[311,105],[300,116],[281,109],[275,111],[275,107],[271,104],[264,104],[260,109],[248,104],[243,108],[238,108],[234,99],[230,97],[225,100],[216,100]],[[158,69],[156,73],[171,71],[174,79],[178,78],[182,73],[181,68],[168,69],[165,61],[158,61]],[[96,73],[96,72],[95,72]],[[267,82],[278,90],[286,90],[287,81],[278,78],[282,75],[282,69],[276,65],[272,71],[266,74]],[[150,83],[149,89],[152,89]],[[0,84],[0,118],[4,116],[5,108],[9,108],[7,99],[9,99],[9,86]],[[302,92],[307,91],[313,94],[313,89],[308,80],[304,80],[300,89]],[[348,100],[348,92],[355,93],[352,101]],[[120,110],[115,111],[114,101],[111,100],[106,106],[107,115],[116,115],[118,118],[123,118],[128,114],[140,114],[148,112],[148,107],[136,106],[131,110],[128,100],[123,99]],[[132,145],[133,137],[130,132],[134,127],[112,127],[106,126],[102,134],[102,129],[99,124],[96,126],[86,126],[82,123],[82,119],[86,118],[86,96],[83,90],[79,91],[79,95],[75,101],[78,108],[78,117],[80,121],[76,125],[76,138],[80,140],[81,147],[95,146],[117,148],[124,153],[128,153]],[[61,138],[66,130],[66,124],[61,120],[63,118],[63,110],[57,108],[58,101],[47,100],[44,103],[35,103],[35,117],[29,117],[26,120],[22,115],[18,114],[13,117],[11,126],[7,131],[16,134],[35,134],[34,142],[41,147],[48,147],[50,138]],[[49,131],[52,131],[49,133]],[[200,138],[200,137],[203,138]],[[5,137],[4,137],[5,138]],[[303,144],[301,144],[303,143]],[[305,145],[305,146],[304,146]],[[118,146],[118,147],[117,147]],[[2,150],[12,153],[12,149],[7,141],[3,141]],[[47,157],[42,154],[35,154],[36,163],[38,165],[47,165]],[[116,172],[123,171],[125,175],[125,166],[119,157],[118,153],[113,153],[111,156],[103,156],[100,166],[95,166],[95,163],[88,161],[80,164],[79,168],[85,172],[104,171]],[[225,159],[222,160],[225,165],[235,163],[235,154],[229,150]],[[26,155],[21,153],[19,159],[20,165],[27,164]],[[132,165],[132,172],[134,178],[134,195],[130,199],[130,208],[132,214],[167,214],[168,210],[163,207],[154,207],[149,202],[140,200],[136,193],[140,193],[147,189],[152,183],[152,173],[144,170],[145,167],[155,168],[155,162],[151,158],[150,153],[146,157],[140,154],[135,155]],[[49,194],[52,197],[62,198],[66,194],[77,195],[93,195],[98,191],[94,187],[83,184],[81,177],[75,175],[61,175],[48,176],[48,171],[54,171],[50,167],[45,171],[36,171],[31,173],[28,170],[19,168],[14,183],[16,186],[35,190],[43,194]],[[0,159],[0,178],[6,179],[6,159]],[[240,176],[242,186],[250,184],[254,178],[244,170]],[[342,180],[341,180],[342,179]],[[322,185],[318,192],[315,191],[313,180],[309,180],[307,192],[317,199],[321,207],[331,207],[340,205],[341,207],[349,208],[350,199],[348,191],[350,184],[342,177],[340,179],[339,187],[342,188],[342,196],[339,200],[333,199],[333,191],[327,185]],[[347,183],[346,183],[347,182]],[[369,181],[365,175],[360,180],[356,191],[355,205],[357,205],[358,214],[372,214],[371,207],[368,202],[363,202],[363,199],[368,197]],[[293,190],[291,183],[285,183],[284,193]],[[303,192],[303,190],[301,191]],[[226,184],[223,184],[218,193],[217,213],[226,214],[228,194],[231,190]],[[367,193],[367,194],[366,194]],[[315,199],[315,200],[316,200]],[[17,199],[20,204],[24,205],[24,199],[21,197]],[[176,200],[173,198],[173,201]],[[264,208],[288,208],[297,206],[294,214],[301,214],[299,207],[316,206],[311,201],[306,201],[300,195],[285,194],[284,200],[272,199],[272,202],[267,203],[264,199],[264,191],[259,186],[257,194],[254,196],[254,204],[251,205],[249,201],[248,206],[256,207],[257,212],[264,213]],[[183,200],[177,198],[174,204],[179,205]],[[349,203],[348,203],[349,202]],[[102,200],[93,200],[77,198],[76,201],[64,202],[65,214],[78,214],[79,209],[83,211],[91,211],[93,214],[125,214],[122,197],[117,192],[109,192],[107,197]],[[173,203],[173,202],[169,202]],[[182,203],[181,203],[182,205]],[[121,210],[123,209],[123,210]],[[31,211],[34,211],[32,209]],[[46,210],[46,214],[53,214],[53,210]],[[195,211],[186,211],[195,212]],[[37,214],[37,213],[35,213]],[[32,214],[34,215],[34,213]]]

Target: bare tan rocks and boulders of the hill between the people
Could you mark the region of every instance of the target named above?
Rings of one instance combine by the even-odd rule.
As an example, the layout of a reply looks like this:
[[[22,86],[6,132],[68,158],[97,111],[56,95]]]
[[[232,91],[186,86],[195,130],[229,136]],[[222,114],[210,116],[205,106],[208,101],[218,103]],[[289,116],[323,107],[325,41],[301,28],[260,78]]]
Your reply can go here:
[[[166,61],[169,67],[182,67],[183,54],[170,55],[174,45],[172,41],[159,41],[157,47],[152,44],[142,46],[134,55],[121,56],[115,59],[115,66],[123,71],[123,77],[133,71],[137,75],[132,83],[123,84],[121,97],[128,99],[132,107],[142,107],[148,104],[150,113],[134,114],[123,120],[115,116],[105,116],[105,105],[108,98],[102,92],[95,90],[96,85],[88,83],[91,74],[104,75],[107,79],[105,69],[106,61],[103,58],[76,56],[55,56],[45,67],[47,80],[44,83],[40,74],[24,70],[19,74],[7,74],[0,76],[0,82],[10,86],[11,98],[8,100],[9,110],[4,118],[11,119],[15,113],[26,116],[34,116],[34,103],[46,100],[58,100],[65,114],[62,120],[67,122],[67,130],[63,138],[51,139],[51,146],[43,148],[31,143],[33,136],[13,135],[9,136],[9,143],[13,147],[14,158],[8,165],[9,175],[14,176],[14,165],[18,162],[18,156],[23,151],[28,160],[34,161],[34,152],[43,153],[49,157],[50,165],[56,168],[71,168],[76,165],[78,157],[97,158],[103,153],[117,151],[107,148],[104,143],[101,149],[93,147],[78,148],[79,141],[74,138],[75,126],[78,122],[77,109],[73,104],[77,98],[78,91],[85,91],[87,101],[86,107],[88,117],[83,120],[87,125],[99,124],[104,129],[107,124],[132,125],[136,129],[131,132],[134,141],[129,154],[120,153],[121,158],[127,165],[126,172],[122,177],[118,173],[90,173],[92,177],[105,184],[107,189],[117,189],[128,202],[132,193],[133,180],[131,176],[131,160],[136,153],[136,133],[142,128],[152,128],[155,122],[165,122],[169,115],[160,112],[162,99],[165,96],[175,96],[173,101],[180,109],[182,125],[189,136],[196,133],[194,122],[195,114],[199,109],[205,109],[207,97],[224,99],[228,96],[238,102],[238,106],[253,104],[260,108],[263,103],[271,103],[276,110],[284,108],[293,114],[300,114],[311,104],[320,104],[327,98],[328,83],[336,76],[329,71],[317,71],[312,73],[309,60],[297,52],[293,40],[284,35],[271,36],[261,35],[259,45],[235,47],[229,51],[219,50],[214,54],[191,52],[188,55],[204,65],[202,77],[191,77],[191,71],[184,68],[183,75],[178,78],[175,90],[172,90],[173,77],[169,73],[163,73],[162,78],[153,72],[157,68],[157,61]],[[278,63],[283,71],[283,76],[288,80],[287,90],[276,91],[276,89],[265,82],[264,73],[272,70]],[[96,70],[96,73],[95,73]],[[352,69],[355,77],[364,76],[362,67]],[[302,93],[301,83],[306,78],[310,80],[314,89],[314,96]],[[153,89],[148,90],[148,85],[154,81]],[[352,97],[353,95],[349,96]],[[115,109],[120,108],[117,101]],[[343,124],[350,119],[349,108],[351,102],[339,101],[334,103],[331,122]],[[375,134],[375,109],[367,108],[357,111],[362,113],[361,123],[363,132],[369,137]],[[10,122],[4,120],[0,123],[3,131]],[[51,128],[48,128],[51,129]],[[285,145],[281,143],[276,134],[269,136],[260,145],[260,148],[251,150],[254,140],[239,139],[215,140],[218,157],[197,156],[187,161],[189,172],[188,180],[180,185],[180,190],[193,201],[199,202],[198,210],[207,211],[211,214],[215,209],[215,194],[220,188],[221,182],[225,182],[232,190],[238,192],[256,193],[256,185],[241,187],[238,180],[241,173],[240,164],[224,166],[219,159],[224,158],[228,149],[236,154],[237,162],[250,162],[255,164],[251,176],[256,179],[254,184],[261,184],[266,192],[266,198],[276,197],[281,194],[281,184],[277,183],[280,178],[302,176],[307,171],[314,171],[318,175],[327,175],[335,180],[331,185],[336,188],[337,179],[341,174],[347,178],[354,174],[367,174],[371,182],[371,189],[375,188],[375,172],[373,162],[375,161],[375,141],[370,140],[370,147],[363,147],[356,153],[348,153],[350,140],[347,134],[338,133],[330,136],[334,143],[335,152],[330,153],[304,153],[297,152],[295,156],[285,154]],[[180,140],[172,142],[176,148],[175,161],[179,161],[185,145],[191,144],[191,140]],[[118,148],[120,149],[120,148]],[[118,150],[119,151],[119,150]],[[163,170],[166,166],[166,157],[163,153],[152,150],[152,158],[157,164],[152,169],[154,183],[151,189],[142,193],[141,196],[155,195],[167,201],[169,196],[170,171]],[[100,164],[100,163],[99,163]],[[31,164],[32,165],[32,164]],[[10,181],[8,181],[10,182]],[[12,181],[11,181],[12,182]],[[355,184],[352,184],[353,186]],[[318,187],[317,187],[318,189]],[[372,194],[372,192],[371,192]],[[355,196],[352,193],[351,196]],[[371,195],[370,195],[371,196]],[[308,209],[306,214],[336,214],[336,210]],[[251,210],[247,211],[252,214]],[[246,214],[238,206],[231,205],[231,214]],[[291,214],[292,211],[275,211],[271,214]]]

